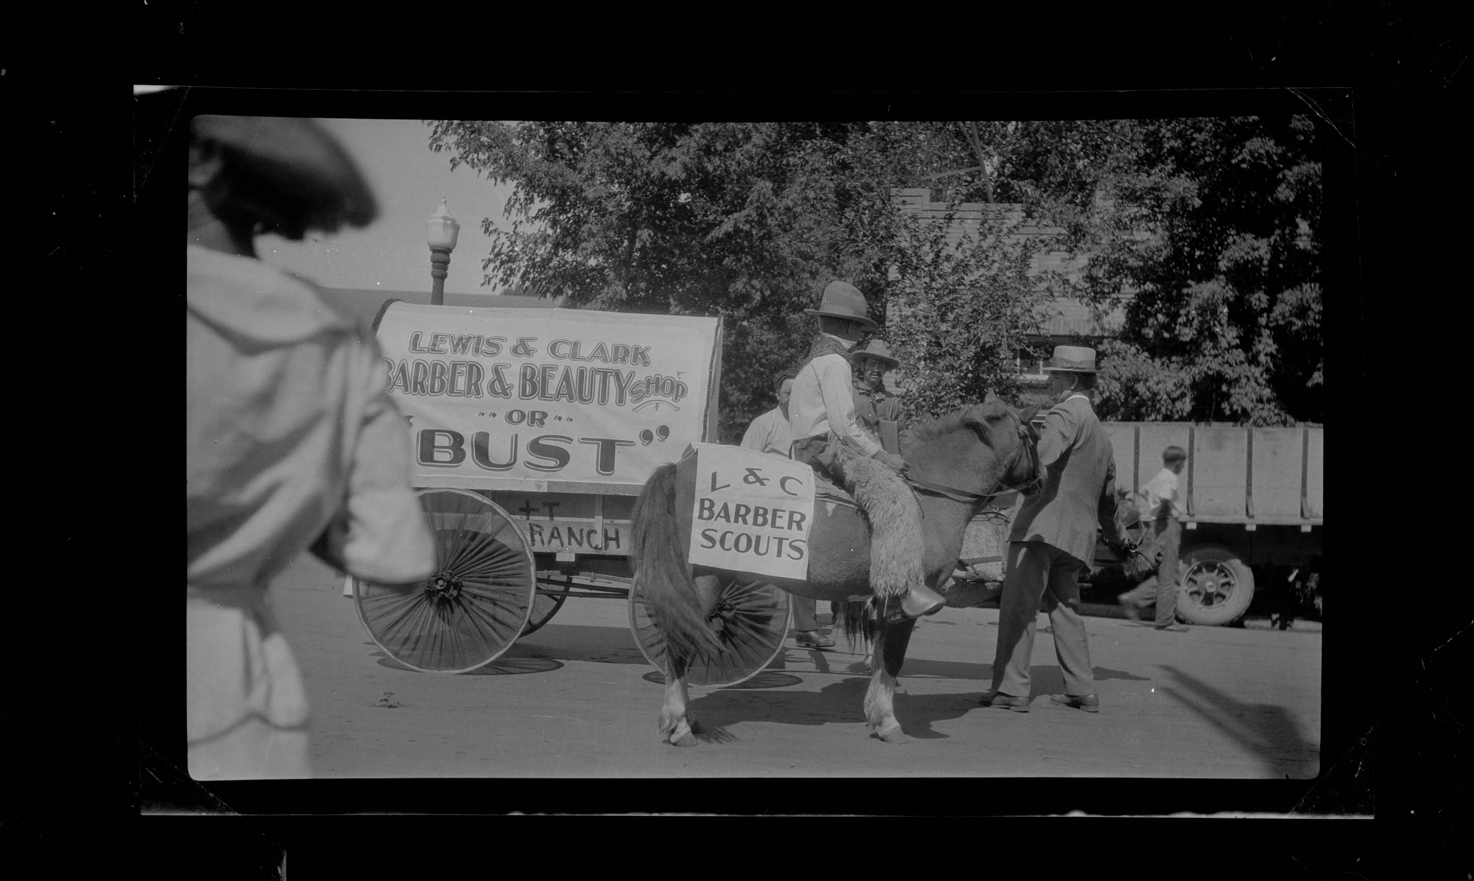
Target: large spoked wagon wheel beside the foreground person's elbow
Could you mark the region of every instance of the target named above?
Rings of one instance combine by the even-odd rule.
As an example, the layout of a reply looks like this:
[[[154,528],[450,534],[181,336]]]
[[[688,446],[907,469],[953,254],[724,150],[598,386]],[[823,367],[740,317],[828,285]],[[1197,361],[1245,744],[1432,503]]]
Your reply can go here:
[[[422,489],[438,569],[410,591],[354,579],[358,620],[394,660],[464,673],[511,647],[537,591],[532,550],[506,511],[466,489]]]

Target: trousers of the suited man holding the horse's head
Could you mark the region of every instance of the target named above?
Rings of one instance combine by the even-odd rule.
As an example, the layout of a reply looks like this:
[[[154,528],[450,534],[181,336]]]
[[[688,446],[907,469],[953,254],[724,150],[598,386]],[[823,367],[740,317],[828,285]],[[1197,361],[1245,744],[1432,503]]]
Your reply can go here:
[[[1054,545],[1008,542],[1004,595],[998,606],[998,650],[993,654],[993,691],[1029,697],[1029,667],[1039,604],[1054,631],[1054,656],[1064,673],[1064,692],[1095,694],[1091,645],[1080,617],[1079,575],[1083,560]]]

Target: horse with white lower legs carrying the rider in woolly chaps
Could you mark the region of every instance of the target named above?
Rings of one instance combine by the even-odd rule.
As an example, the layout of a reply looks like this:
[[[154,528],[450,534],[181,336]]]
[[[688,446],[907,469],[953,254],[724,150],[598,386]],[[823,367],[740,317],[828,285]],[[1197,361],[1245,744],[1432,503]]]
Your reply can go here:
[[[989,396],[983,404],[912,426],[904,435],[907,479],[917,492],[924,524],[923,569],[933,589],[951,578],[963,532],[991,498],[1014,491],[1032,495],[1044,485],[1035,449],[1038,433],[1029,415]],[[696,488],[693,471],[680,474],[684,479],[675,464],[659,466],[641,488],[631,511],[631,563],[634,589],[644,595],[666,639],[665,704],[657,728],[665,743],[690,747],[699,743],[696,735],[702,729],[688,709],[685,669],[691,659],[719,651],[708,614],[724,585],[753,576],[687,563]],[[831,603],[871,598],[870,616],[861,623],[865,636],[874,639],[873,653],[880,663],[873,664],[865,692],[867,726],[871,737],[884,743],[907,743],[892,704],[915,619],[873,600],[870,524],[864,511],[817,504],[809,529],[808,579],[764,576],[764,580],[797,597]],[[850,617],[853,625],[859,616]],[[853,644],[853,626],[846,631]]]

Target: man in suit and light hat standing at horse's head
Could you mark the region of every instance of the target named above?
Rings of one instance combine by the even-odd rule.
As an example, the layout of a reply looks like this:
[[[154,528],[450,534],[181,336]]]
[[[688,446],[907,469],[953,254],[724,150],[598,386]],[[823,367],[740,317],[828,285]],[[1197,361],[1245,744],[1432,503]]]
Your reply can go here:
[[[1044,417],[1039,464],[1045,485],[1023,499],[1008,533],[1007,573],[998,611],[993,689],[979,704],[1029,712],[1029,663],[1039,601],[1049,614],[1054,653],[1064,672],[1057,704],[1095,713],[1100,698],[1091,672],[1091,647],[1079,614],[1080,570],[1095,554],[1095,527],[1119,541],[1116,464],[1110,438],[1095,418],[1095,349],[1055,346],[1047,371],[1055,405]]]

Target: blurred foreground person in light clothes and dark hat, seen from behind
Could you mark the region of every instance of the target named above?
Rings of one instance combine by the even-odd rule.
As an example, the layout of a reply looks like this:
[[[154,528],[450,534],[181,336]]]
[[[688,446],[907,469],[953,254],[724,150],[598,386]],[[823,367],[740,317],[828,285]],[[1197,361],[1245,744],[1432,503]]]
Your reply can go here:
[[[184,308],[186,719],[196,781],[310,776],[308,706],[268,600],[302,551],[386,585],[435,545],[377,345],[255,237],[363,227],[373,194],[308,119],[196,116]]]

